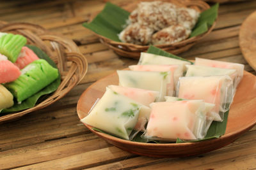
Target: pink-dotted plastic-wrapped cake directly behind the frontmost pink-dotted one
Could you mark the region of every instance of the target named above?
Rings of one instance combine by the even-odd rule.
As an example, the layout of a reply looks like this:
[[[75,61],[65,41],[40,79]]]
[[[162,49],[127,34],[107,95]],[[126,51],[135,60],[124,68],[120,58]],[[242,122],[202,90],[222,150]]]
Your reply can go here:
[[[229,76],[193,76],[179,80],[179,96],[184,99],[202,99],[215,104],[211,111],[215,121],[221,122],[233,100],[233,83]]]

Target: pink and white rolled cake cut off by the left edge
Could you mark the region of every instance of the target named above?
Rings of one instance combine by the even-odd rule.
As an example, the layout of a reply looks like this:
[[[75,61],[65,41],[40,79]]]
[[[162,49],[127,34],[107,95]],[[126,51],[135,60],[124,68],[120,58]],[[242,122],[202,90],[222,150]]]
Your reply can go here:
[[[14,81],[20,76],[20,69],[0,54],[0,83]]]

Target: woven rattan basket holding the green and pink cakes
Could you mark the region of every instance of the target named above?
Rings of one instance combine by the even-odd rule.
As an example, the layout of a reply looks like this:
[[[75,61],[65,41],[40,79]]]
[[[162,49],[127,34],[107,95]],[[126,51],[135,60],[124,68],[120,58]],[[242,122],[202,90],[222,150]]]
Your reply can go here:
[[[86,58],[79,52],[76,44],[70,39],[54,36],[43,27],[28,23],[12,23],[0,21],[0,32],[21,34],[28,40],[28,44],[38,46],[56,63],[60,74],[61,83],[58,89],[44,101],[17,113],[0,116],[0,122],[22,117],[31,111],[40,110],[58,101],[65,96],[79,81],[81,81],[88,68]]]

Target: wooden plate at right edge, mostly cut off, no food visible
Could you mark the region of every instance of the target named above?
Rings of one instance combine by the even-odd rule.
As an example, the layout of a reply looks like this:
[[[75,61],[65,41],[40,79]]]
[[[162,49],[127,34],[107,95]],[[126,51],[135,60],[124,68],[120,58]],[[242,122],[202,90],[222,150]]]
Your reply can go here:
[[[244,59],[256,70],[256,11],[249,15],[241,25],[239,45]]]

